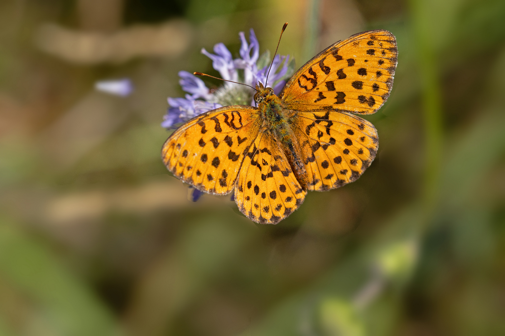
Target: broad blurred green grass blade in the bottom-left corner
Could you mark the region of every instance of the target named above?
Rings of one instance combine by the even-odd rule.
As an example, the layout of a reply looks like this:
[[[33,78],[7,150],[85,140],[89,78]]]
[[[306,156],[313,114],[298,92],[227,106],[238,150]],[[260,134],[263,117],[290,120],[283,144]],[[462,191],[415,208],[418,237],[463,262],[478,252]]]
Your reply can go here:
[[[117,335],[111,312],[59,263],[58,258],[15,225],[0,220],[0,276],[35,301],[58,335]]]

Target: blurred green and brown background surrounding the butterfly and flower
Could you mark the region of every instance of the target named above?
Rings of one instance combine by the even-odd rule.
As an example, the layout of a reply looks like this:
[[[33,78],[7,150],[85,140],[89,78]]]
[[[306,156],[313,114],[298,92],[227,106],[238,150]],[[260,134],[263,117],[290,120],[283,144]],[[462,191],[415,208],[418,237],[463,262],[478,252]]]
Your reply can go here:
[[[397,38],[379,153],[276,226],[160,160],[177,72]],[[505,334],[503,0],[2,0],[0,335]],[[246,34],[248,35],[248,34]],[[93,89],[130,78],[132,95]],[[220,85],[213,80],[209,85]]]

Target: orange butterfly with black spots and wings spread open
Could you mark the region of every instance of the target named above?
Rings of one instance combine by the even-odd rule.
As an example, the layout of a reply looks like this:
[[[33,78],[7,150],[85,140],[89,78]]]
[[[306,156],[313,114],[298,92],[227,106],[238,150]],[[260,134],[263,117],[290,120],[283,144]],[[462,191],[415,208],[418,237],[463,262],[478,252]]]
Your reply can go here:
[[[257,107],[224,106],[187,121],[163,145],[162,160],[198,190],[234,189],[246,217],[277,224],[307,191],[341,187],[370,166],[377,130],[355,114],[384,104],[396,63],[390,32],[352,35],[309,60],[278,96],[257,84]]]

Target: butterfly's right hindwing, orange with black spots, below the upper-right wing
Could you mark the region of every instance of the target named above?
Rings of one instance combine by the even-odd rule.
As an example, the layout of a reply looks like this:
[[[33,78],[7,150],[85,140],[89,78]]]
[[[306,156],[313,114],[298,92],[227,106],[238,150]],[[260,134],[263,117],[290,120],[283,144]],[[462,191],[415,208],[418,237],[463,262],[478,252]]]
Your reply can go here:
[[[358,179],[375,158],[377,130],[345,112],[300,112],[295,123],[308,190],[324,191]]]

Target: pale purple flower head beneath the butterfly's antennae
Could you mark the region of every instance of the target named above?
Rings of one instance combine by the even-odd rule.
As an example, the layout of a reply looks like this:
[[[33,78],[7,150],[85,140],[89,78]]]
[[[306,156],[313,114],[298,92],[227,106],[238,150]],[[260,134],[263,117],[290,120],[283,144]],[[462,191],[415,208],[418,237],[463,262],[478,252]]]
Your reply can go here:
[[[291,76],[294,67],[293,62],[288,64],[288,56],[277,55],[272,63],[272,70],[267,80],[267,73],[270,67],[270,54],[266,51],[260,57],[260,44],[254,30],[249,31],[249,42],[245,34],[239,34],[241,45],[239,58],[233,59],[231,52],[223,43],[214,46],[214,53],[208,52],[205,48],[201,53],[212,59],[212,66],[225,80],[239,82],[254,87],[261,82],[267,87],[272,87],[275,94],[279,94],[286,80]],[[258,69],[260,58],[266,60],[268,65],[261,65]],[[255,91],[251,88],[239,84],[225,82],[220,88],[211,90],[204,81],[186,71],[180,71],[179,84],[182,90],[187,92],[185,98],[168,98],[170,107],[163,117],[162,126],[171,129],[177,128],[178,124],[185,122],[198,114],[227,105],[247,105],[254,104],[252,97]]]

